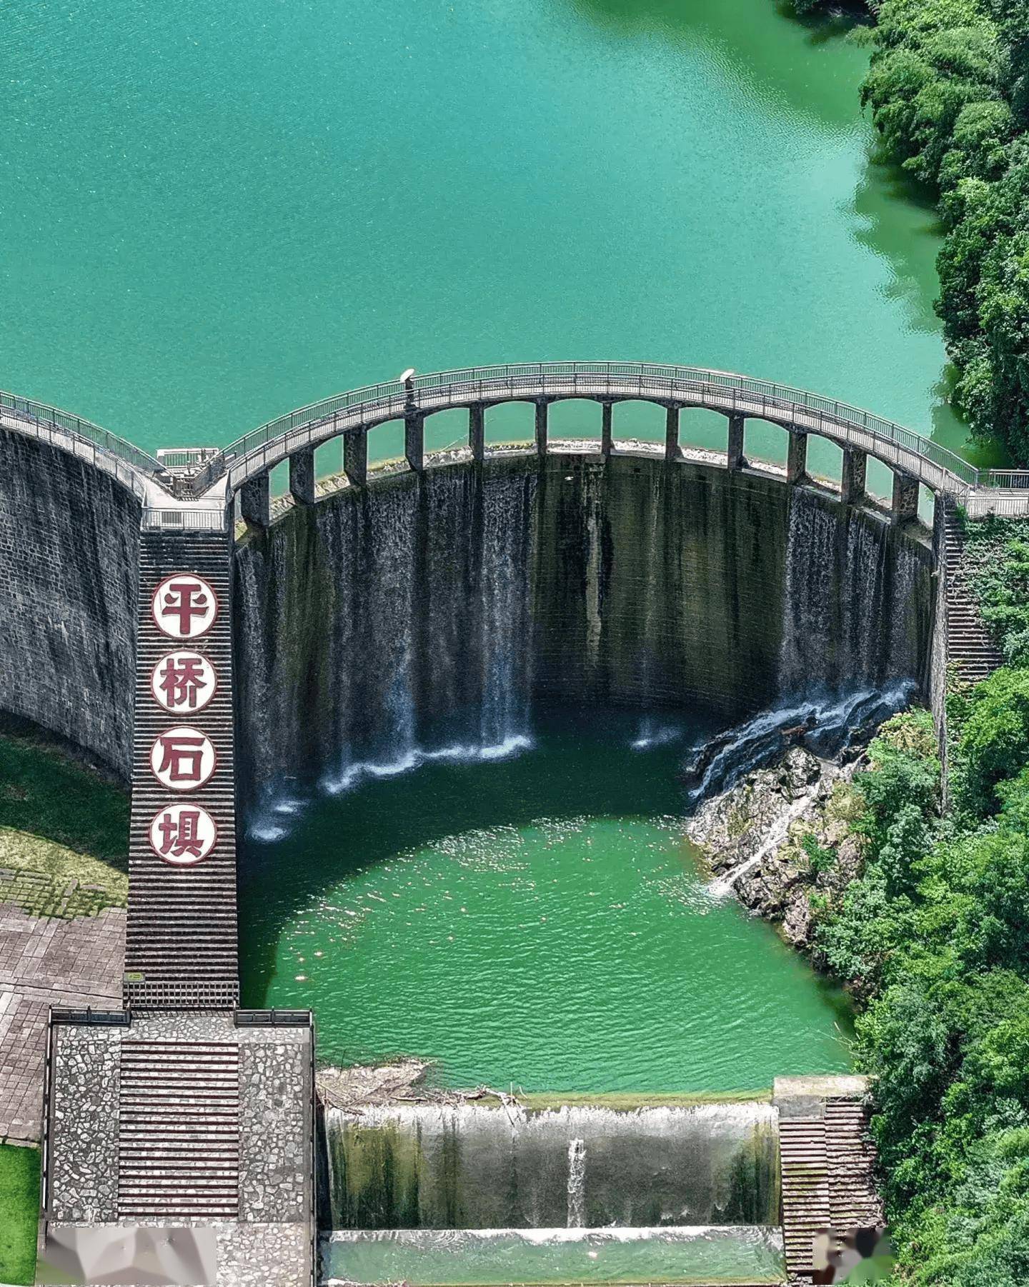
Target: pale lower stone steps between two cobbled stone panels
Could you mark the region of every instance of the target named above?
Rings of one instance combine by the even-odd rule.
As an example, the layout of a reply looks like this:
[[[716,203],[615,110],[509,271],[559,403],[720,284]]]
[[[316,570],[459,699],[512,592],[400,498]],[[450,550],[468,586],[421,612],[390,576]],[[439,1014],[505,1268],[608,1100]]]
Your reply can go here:
[[[118,1218],[240,1212],[240,1048],[121,1042]]]

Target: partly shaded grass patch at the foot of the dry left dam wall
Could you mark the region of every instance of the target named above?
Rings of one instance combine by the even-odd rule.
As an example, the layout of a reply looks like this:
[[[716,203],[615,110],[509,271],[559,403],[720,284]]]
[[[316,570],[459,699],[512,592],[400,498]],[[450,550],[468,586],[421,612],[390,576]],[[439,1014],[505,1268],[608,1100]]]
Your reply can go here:
[[[127,792],[41,737],[0,731],[0,867],[124,903],[127,844]]]

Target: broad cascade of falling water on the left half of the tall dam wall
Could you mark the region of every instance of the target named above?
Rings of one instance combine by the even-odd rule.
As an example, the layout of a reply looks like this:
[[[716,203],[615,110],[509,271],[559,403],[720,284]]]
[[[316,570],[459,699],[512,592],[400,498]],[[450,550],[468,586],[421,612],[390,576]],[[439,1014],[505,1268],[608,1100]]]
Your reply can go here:
[[[384,481],[294,516],[283,539],[237,560],[259,837],[279,831],[305,782],[331,794],[426,759],[531,744],[534,479]]]

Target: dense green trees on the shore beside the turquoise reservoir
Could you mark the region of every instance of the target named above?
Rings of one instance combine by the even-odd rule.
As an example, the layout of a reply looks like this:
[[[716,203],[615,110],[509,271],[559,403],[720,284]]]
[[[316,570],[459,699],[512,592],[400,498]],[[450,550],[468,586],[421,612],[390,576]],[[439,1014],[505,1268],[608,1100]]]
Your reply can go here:
[[[824,0],[797,0],[800,12]],[[1029,463],[1029,3],[872,3],[862,102],[885,153],[938,198],[954,403]]]

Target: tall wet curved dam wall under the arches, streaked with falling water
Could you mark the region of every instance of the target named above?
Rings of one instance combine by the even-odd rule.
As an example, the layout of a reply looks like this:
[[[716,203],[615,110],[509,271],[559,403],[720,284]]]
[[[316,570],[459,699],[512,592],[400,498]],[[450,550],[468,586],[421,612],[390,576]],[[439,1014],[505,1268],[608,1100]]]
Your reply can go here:
[[[234,561],[250,802],[440,749],[500,754],[540,703],[692,709],[925,683],[925,533],[713,465],[529,453],[384,472]]]

